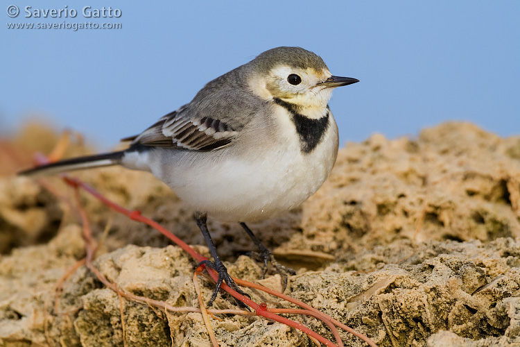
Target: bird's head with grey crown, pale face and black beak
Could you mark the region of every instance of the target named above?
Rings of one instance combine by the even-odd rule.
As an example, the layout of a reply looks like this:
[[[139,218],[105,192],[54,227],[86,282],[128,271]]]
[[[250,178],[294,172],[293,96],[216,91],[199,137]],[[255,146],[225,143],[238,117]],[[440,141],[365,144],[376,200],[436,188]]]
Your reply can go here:
[[[321,117],[335,87],[358,82],[332,76],[322,58],[300,47],[270,49],[248,66],[248,86],[255,94],[292,103],[308,117]]]

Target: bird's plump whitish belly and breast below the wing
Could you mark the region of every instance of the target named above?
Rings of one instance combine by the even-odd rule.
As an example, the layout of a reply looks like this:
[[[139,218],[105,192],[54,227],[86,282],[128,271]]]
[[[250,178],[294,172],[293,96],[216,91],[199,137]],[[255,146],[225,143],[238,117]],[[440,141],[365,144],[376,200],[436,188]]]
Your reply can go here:
[[[291,140],[283,146],[250,146],[239,153],[232,146],[202,153],[154,149],[141,160],[157,163],[150,164],[150,171],[193,209],[220,221],[259,221],[306,201],[336,161],[338,131],[333,117],[311,153],[302,153],[296,134],[287,138]]]

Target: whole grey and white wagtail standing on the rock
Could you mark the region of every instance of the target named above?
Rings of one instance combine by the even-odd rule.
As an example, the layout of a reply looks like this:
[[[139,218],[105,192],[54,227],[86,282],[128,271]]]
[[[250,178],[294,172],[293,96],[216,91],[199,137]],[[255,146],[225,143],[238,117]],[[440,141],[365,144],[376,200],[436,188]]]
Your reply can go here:
[[[190,103],[162,117],[124,151],[54,162],[21,174],[120,164],[150,171],[195,210],[222,281],[227,274],[206,226],[207,216],[234,221],[268,260],[284,271],[245,222],[267,219],[306,201],[329,176],[338,154],[332,90],[358,82],[332,76],[322,58],[300,47],[278,47],[207,83]],[[265,274],[265,270],[264,270]],[[284,277],[286,283],[286,276]]]

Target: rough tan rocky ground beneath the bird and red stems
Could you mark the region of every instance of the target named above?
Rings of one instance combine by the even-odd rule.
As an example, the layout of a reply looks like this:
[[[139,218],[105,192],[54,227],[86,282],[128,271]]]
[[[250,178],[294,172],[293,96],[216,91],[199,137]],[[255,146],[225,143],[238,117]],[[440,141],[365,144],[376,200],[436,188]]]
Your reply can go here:
[[[71,189],[59,178],[45,188],[10,175],[30,165],[33,150],[49,151],[56,141],[52,131],[28,126],[0,142],[0,346],[123,346],[119,296],[85,266],[64,282],[55,307],[58,280],[85,255],[67,204]],[[67,155],[86,151],[76,142]],[[204,244],[192,211],[150,174],[113,167],[77,176],[185,242]],[[110,281],[173,306],[198,305],[196,264],[187,253],[87,194],[83,202],[103,239],[95,264]],[[379,346],[520,346],[520,137],[449,123],[417,138],[349,143],[301,208],[251,227],[297,270],[286,294]],[[262,269],[244,256],[254,246],[240,226],[210,221],[209,228],[229,272],[258,280]],[[207,301],[211,283],[201,282]],[[274,273],[259,282],[281,287]],[[278,303],[248,292],[270,307]],[[218,296],[214,307],[235,306]],[[123,311],[127,346],[210,346],[200,314],[132,301]],[[211,321],[220,346],[313,346],[279,323],[218,318]],[[333,339],[319,321],[293,319]],[[366,346],[342,337],[346,346]]]

